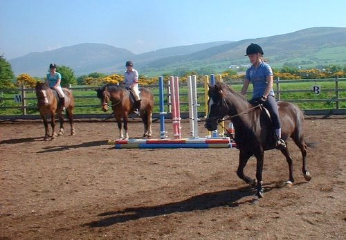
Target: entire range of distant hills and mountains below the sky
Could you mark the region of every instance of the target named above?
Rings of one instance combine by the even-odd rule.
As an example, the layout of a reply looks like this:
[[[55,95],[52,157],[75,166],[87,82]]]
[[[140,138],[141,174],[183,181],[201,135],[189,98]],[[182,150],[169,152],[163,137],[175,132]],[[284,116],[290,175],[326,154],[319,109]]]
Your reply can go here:
[[[248,64],[244,57],[248,44],[260,44],[271,66],[316,66],[318,64],[346,65],[346,28],[307,28],[294,33],[244,39],[217,41],[190,46],[163,48],[148,53],[134,54],[123,48],[105,44],[79,44],[43,53],[30,53],[10,59],[16,75],[29,73],[42,77],[48,64],[55,62],[70,66],[76,75],[92,72],[114,73],[125,69],[131,59],[140,74],[174,72],[177,68],[199,70],[210,68],[225,71],[230,65]]]

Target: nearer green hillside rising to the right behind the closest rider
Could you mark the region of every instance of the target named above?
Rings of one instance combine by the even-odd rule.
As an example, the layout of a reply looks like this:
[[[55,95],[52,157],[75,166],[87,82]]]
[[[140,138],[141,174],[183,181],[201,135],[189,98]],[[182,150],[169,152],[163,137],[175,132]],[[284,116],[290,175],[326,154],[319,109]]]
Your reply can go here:
[[[346,28],[308,28],[273,37],[234,41],[188,55],[166,57],[151,62],[147,67],[169,71],[181,66],[196,69],[246,64],[248,58],[244,57],[245,50],[251,43],[262,46],[264,57],[269,59],[272,66],[282,66],[287,62],[311,63],[315,66],[346,64]]]

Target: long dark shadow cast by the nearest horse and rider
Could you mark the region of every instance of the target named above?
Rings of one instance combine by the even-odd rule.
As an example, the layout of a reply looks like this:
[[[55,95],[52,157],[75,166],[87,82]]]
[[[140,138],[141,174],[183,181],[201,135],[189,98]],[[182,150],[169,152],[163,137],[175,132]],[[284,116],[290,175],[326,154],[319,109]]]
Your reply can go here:
[[[266,192],[273,188],[268,187]],[[102,212],[99,217],[107,216],[106,218],[84,223],[83,226],[89,228],[103,228],[117,223],[125,223],[127,221],[143,219],[152,216],[161,216],[177,212],[192,212],[197,210],[210,210],[215,207],[238,207],[245,203],[253,203],[255,198],[255,189],[246,186],[235,190],[223,190],[192,196],[183,201],[167,203],[163,205],[155,205],[149,207],[129,207],[124,210],[115,212]],[[243,201],[239,201],[245,197]]]

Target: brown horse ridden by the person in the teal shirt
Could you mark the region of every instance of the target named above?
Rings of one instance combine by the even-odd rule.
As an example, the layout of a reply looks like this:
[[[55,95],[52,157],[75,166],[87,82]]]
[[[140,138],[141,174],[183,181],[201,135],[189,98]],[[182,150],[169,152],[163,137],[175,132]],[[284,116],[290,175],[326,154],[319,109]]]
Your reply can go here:
[[[50,138],[47,121],[49,116],[51,117],[51,127],[53,131],[51,139],[53,140],[57,136],[57,133],[55,133],[55,113],[57,113],[60,119],[59,136],[64,135],[64,117],[62,116],[62,109],[59,103],[59,95],[57,95],[55,90],[50,89],[48,84],[43,82],[37,82],[35,90],[37,107],[39,108],[39,113],[44,121],[44,127],[46,129],[44,140]],[[63,91],[65,93],[66,115],[68,116],[71,125],[71,135],[75,135],[75,129],[73,128],[73,109],[75,107],[75,99],[69,89],[63,88]]]

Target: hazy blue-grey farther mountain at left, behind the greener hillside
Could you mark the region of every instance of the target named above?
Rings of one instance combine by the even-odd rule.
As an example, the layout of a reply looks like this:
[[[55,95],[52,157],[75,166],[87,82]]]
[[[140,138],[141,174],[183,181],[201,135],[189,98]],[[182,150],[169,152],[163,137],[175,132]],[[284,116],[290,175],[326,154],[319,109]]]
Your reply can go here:
[[[145,66],[147,62],[156,59],[194,53],[229,42],[217,41],[207,44],[164,48],[139,55],[106,44],[78,44],[42,53],[29,53],[23,57],[10,59],[8,62],[10,62],[15,75],[29,73],[32,76],[43,77],[52,62],[58,65],[70,66],[76,75],[93,72],[114,73],[124,71],[125,62],[129,59],[135,62],[136,67]]]

